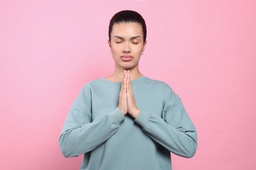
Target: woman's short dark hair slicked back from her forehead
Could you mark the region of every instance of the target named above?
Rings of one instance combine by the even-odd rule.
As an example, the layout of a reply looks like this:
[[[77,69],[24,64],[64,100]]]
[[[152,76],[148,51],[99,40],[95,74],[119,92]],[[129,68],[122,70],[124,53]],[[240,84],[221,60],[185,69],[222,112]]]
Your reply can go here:
[[[110,25],[108,27],[108,37],[109,41],[111,40],[110,34],[112,32],[112,27],[114,24],[118,24],[119,22],[135,22],[142,25],[143,32],[143,43],[146,41],[146,23],[142,16],[134,11],[134,10],[121,10],[114,14],[114,16],[110,20]]]

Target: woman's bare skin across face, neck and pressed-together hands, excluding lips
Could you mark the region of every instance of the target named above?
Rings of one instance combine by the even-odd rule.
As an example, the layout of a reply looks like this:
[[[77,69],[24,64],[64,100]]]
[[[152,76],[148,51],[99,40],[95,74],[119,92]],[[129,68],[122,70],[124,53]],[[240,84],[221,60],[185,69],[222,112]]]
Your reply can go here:
[[[137,118],[140,112],[133,95],[131,80],[142,76],[139,71],[139,60],[146,47],[146,42],[143,43],[143,32],[140,24],[134,22],[119,23],[112,27],[111,40],[108,41],[108,45],[115,61],[115,70],[106,79],[122,82],[118,107],[124,116],[128,113],[133,118]],[[121,59],[121,56],[127,55],[133,57],[131,61]]]

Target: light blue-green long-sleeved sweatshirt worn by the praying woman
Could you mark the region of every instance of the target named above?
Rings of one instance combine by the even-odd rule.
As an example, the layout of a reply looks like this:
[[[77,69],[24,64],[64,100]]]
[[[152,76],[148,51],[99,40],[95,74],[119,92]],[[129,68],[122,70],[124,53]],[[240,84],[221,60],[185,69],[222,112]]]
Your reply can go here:
[[[65,157],[83,155],[81,169],[171,169],[170,152],[191,158],[196,128],[180,97],[160,80],[131,80],[136,119],[117,107],[121,82],[87,82],[70,107],[59,138]]]

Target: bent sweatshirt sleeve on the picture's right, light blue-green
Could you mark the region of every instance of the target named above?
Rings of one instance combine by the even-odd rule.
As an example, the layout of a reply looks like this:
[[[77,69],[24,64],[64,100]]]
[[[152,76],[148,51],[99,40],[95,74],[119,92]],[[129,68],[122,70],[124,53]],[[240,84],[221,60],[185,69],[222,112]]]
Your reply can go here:
[[[196,153],[197,132],[179,96],[171,87],[165,88],[162,118],[157,114],[140,110],[135,119],[146,134],[169,152],[185,158]]]

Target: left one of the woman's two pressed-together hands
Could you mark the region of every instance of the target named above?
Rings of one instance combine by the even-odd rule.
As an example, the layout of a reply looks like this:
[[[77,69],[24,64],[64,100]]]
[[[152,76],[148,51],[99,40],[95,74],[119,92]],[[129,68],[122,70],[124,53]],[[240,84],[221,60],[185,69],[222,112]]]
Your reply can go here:
[[[124,70],[124,77],[123,77],[123,82],[121,84],[121,91],[119,93],[119,103],[118,107],[125,116],[127,114],[127,93],[126,93],[126,86],[127,86],[127,71]]]

